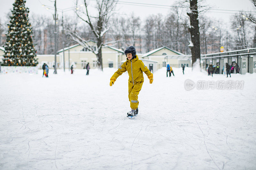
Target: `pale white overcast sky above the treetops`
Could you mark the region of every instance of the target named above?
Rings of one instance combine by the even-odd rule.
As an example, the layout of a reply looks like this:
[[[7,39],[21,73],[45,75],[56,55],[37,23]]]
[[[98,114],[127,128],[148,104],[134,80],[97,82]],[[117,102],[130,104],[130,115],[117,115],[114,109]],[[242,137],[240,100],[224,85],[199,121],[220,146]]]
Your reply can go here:
[[[0,0],[0,18],[6,19],[6,14],[12,9],[12,4],[15,0]],[[175,0],[120,0],[126,2],[136,2],[136,3],[145,3],[145,4],[160,4],[160,5],[173,5]],[[81,1],[82,3],[82,1]],[[45,14],[52,15],[53,10],[46,10],[41,4],[53,6],[53,0],[27,0],[26,6],[31,13],[35,14]],[[74,6],[75,0],[57,0],[57,8],[65,9]],[[226,9],[226,10],[245,10],[245,11],[256,11],[253,4],[250,0],[205,0],[205,4],[209,4],[214,9]],[[165,8],[156,8],[156,7],[147,7],[147,6],[138,6],[138,5],[125,5],[118,4],[117,12],[120,14],[130,14],[135,13],[136,16],[140,16],[141,19],[144,19],[150,14],[161,13],[164,16],[169,12],[169,9]],[[227,11],[233,12],[233,11]],[[73,11],[68,11],[66,15],[74,15]],[[61,14],[59,13],[59,16]],[[229,18],[232,14],[229,13],[220,13],[220,12],[207,12],[205,15],[208,15],[211,18],[216,18],[223,22],[229,22]]]

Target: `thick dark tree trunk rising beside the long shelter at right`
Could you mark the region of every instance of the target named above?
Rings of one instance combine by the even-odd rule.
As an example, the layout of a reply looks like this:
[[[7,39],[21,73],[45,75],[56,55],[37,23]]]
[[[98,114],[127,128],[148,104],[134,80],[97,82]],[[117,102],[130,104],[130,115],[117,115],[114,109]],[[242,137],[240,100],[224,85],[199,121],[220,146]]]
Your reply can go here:
[[[187,13],[190,18],[191,27],[188,28],[190,32],[191,41],[193,47],[191,47],[192,54],[192,67],[197,59],[200,61],[200,33],[199,33],[199,23],[198,23],[198,11],[197,11],[197,0],[190,0],[190,10],[191,13]],[[193,11],[192,11],[193,10]]]

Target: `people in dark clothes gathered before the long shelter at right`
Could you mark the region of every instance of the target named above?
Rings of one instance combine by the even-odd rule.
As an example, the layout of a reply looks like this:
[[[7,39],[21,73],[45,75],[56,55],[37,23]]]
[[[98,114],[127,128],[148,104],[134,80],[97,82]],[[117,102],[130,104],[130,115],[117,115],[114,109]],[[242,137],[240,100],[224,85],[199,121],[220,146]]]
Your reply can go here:
[[[212,64],[209,64],[208,67],[206,67],[206,70],[208,71],[208,76],[211,76],[211,74],[215,73],[215,74],[220,74],[220,66],[213,66]],[[236,70],[236,73],[239,73],[240,71],[240,67],[238,66],[237,63],[232,63],[231,65],[229,65],[228,63],[226,63],[226,73],[227,73],[227,77],[228,75],[231,77],[230,73],[234,73],[234,70]],[[224,67],[222,72],[224,71]],[[221,73],[222,73],[221,72]]]

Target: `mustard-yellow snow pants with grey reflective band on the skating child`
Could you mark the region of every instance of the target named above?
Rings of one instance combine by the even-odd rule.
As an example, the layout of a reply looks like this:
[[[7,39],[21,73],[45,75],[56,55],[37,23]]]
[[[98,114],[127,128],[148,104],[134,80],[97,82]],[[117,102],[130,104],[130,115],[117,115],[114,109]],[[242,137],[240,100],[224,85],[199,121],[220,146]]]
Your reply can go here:
[[[128,83],[128,98],[130,101],[130,106],[134,110],[136,110],[139,105],[138,95],[141,90],[142,84],[143,81],[137,82],[134,85],[132,84],[132,82]]]

